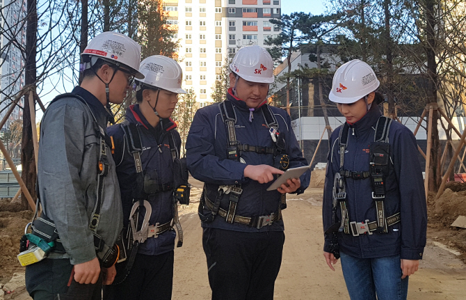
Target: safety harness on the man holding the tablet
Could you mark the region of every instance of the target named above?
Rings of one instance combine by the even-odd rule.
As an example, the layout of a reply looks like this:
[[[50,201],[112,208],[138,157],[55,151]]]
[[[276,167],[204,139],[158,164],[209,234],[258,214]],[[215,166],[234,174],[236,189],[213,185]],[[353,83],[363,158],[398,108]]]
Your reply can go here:
[[[288,168],[289,157],[284,154],[284,150],[286,148],[284,136],[280,136],[277,119],[273,115],[273,112],[268,107],[268,105],[264,104],[260,107],[260,109],[262,111],[262,116],[264,116],[266,127],[269,129],[273,139],[273,148],[243,144],[237,141],[235,129],[236,111],[234,110],[233,103],[230,100],[225,100],[218,104],[218,109],[220,110],[220,116],[223,120],[223,123],[225,123],[227,130],[228,159],[240,161],[241,152],[256,152],[263,155],[272,154],[277,168],[280,168],[281,170],[286,170]],[[241,189],[241,184],[220,185],[218,187],[218,194],[215,200],[211,201],[209,198],[207,198],[206,185],[204,184],[198,210],[201,221],[209,223],[214,221],[217,215],[220,215],[221,217],[225,218],[225,221],[228,223],[236,222],[260,229],[282,218],[281,210],[284,210],[287,207],[285,194],[282,194],[280,198],[280,205],[278,207],[277,213],[255,217],[237,216],[236,207],[242,193],[243,189]],[[229,195],[228,200],[230,201],[230,205],[228,210],[223,210],[220,208],[221,200],[225,195]],[[211,213],[204,215],[204,207],[207,207]]]

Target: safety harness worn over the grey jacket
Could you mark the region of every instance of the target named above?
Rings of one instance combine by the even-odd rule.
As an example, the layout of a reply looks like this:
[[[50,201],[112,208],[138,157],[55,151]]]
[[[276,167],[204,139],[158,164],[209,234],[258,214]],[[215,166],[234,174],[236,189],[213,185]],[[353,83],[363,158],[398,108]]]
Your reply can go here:
[[[104,239],[100,235],[97,234],[97,228],[99,226],[100,220],[100,211],[102,210],[102,198],[104,196],[104,180],[107,175],[109,175],[110,164],[109,159],[106,155],[106,145],[111,145],[111,139],[106,134],[105,130],[97,123],[97,118],[95,118],[93,111],[90,109],[86,100],[83,97],[74,94],[74,93],[65,93],[59,95],[52,103],[63,99],[65,97],[74,97],[77,100],[83,102],[85,104],[90,114],[93,116],[93,126],[96,132],[96,135],[99,136],[99,162],[98,162],[98,170],[97,173],[97,198],[95,200],[95,206],[93,209],[93,214],[89,221],[89,229],[93,232],[94,235],[94,246],[97,253],[97,257],[102,262],[103,267],[111,267],[115,263],[118,258],[118,246],[113,246],[112,248],[105,244]],[[38,200],[35,205],[35,214],[34,214],[34,221],[31,224],[32,227],[32,235],[40,237],[40,239],[45,240],[45,242],[50,243],[54,242],[55,251],[65,253],[65,248],[61,244],[61,240],[58,237],[58,232],[56,231],[56,226],[53,221],[51,221],[47,216],[38,217],[38,207],[40,205],[40,195],[39,195],[39,187],[38,182],[36,183],[36,194],[38,195]],[[29,227],[26,226],[26,230]],[[25,230],[25,231],[26,231]],[[26,233],[26,232],[25,232]],[[31,241],[31,240],[30,240]],[[43,244],[43,243],[42,243]],[[24,251],[24,247],[21,249]],[[50,251],[50,250],[49,250]],[[49,252],[48,251],[48,252]],[[46,252],[47,253],[47,252]]]

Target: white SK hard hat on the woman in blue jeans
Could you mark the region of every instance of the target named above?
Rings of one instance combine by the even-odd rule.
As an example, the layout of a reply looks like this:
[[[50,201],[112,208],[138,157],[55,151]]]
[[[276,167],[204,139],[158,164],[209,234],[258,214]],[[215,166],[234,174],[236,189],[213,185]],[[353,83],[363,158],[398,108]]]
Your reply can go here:
[[[354,103],[380,86],[376,73],[364,61],[354,59],[344,63],[333,75],[328,99],[337,103]]]

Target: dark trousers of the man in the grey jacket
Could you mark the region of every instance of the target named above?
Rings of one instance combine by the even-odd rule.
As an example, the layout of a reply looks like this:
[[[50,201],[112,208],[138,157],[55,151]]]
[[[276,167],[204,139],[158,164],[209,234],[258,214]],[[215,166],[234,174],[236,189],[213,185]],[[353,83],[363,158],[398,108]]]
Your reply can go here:
[[[102,274],[95,284],[80,284],[72,277],[69,259],[45,258],[26,267],[26,290],[34,300],[100,300]]]

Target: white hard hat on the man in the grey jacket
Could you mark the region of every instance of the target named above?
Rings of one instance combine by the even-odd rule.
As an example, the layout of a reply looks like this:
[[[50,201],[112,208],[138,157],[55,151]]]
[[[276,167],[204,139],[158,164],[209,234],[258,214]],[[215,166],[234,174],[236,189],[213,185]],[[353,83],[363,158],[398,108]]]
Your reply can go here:
[[[81,56],[83,56],[83,61],[86,61],[86,69],[92,65],[90,61],[93,57],[102,58],[115,65],[126,66],[134,72],[136,78],[144,78],[144,75],[138,72],[140,45],[122,33],[106,31],[96,35],[90,40]]]

